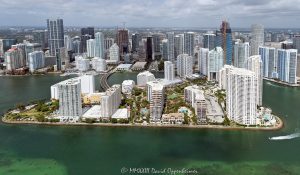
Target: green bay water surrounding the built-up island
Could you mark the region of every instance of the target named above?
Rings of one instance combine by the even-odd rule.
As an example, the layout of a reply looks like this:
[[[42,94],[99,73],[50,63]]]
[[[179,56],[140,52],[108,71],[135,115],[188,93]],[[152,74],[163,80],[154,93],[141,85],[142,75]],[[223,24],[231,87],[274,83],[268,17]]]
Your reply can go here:
[[[123,76],[122,76],[123,75]],[[134,79],[115,74],[109,83]],[[0,77],[0,111],[50,97],[59,76]],[[0,174],[120,174],[122,167],[195,168],[198,174],[300,174],[300,139],[270,141],[299,127],[300,89],[264,83],[263,104],[280,131],[0,124]]]

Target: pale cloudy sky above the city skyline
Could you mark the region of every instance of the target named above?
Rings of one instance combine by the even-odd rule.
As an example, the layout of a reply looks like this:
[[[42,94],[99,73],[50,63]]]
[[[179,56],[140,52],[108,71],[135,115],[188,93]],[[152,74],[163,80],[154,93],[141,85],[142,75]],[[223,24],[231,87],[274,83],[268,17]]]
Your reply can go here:
[[[0,0],[1,26],[300,28],[300,0]]]

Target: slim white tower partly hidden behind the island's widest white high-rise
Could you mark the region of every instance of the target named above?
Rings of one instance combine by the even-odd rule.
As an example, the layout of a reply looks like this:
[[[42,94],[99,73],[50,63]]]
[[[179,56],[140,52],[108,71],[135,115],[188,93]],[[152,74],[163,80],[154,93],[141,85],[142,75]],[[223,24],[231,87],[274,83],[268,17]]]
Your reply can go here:
[[[246,60],[246,68],[257,76],[257,99],[256,104],[262,105],[263,94],[263,63],[260,55],[252,55]]]

